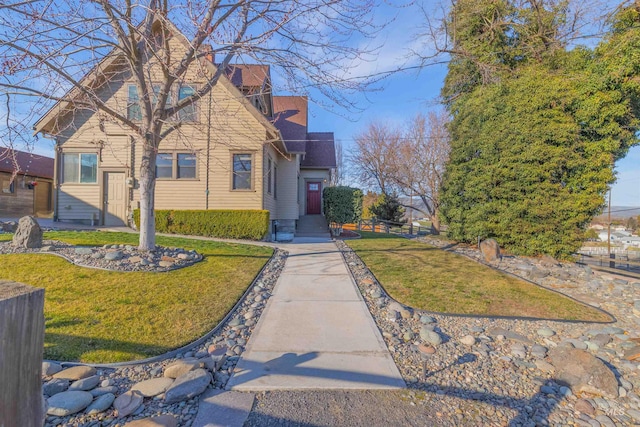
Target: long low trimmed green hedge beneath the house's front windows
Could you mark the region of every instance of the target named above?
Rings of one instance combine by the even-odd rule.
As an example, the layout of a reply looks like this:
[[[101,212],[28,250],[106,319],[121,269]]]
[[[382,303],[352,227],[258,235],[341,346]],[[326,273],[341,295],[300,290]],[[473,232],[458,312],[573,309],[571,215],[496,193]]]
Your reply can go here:
[[[157,210],[159,233],[262,240],[269,231],[269,211],[265,210]],[[133,211],[140,229],[140,209]]]

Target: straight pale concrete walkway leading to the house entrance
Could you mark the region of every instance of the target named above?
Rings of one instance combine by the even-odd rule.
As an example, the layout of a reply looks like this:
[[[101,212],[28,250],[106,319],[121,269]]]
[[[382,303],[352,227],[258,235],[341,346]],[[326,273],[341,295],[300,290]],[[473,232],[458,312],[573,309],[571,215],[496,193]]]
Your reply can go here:
[[[404,381],[329,239],[296,239],[227,388],[388,389]]]

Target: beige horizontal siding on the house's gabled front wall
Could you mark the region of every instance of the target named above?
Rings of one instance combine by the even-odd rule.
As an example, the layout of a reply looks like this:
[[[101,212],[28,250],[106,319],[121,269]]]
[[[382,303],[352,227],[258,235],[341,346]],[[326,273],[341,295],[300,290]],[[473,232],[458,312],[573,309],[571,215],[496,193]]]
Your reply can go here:
[[[180,58],[184,47],[172,39],[173,57]],[[152,69],[151,73],[158,70]],[[205,71],[206,74],[206,71]],[[126,79],[126,76],[123,76]],[[158,78],[158,81],[161,79]],[[202,69],[194,68],[186,81],[204,84]],[[111,83],[100,96],[107,105],[126,115],[128,83]],[[177,87],[172,91],[177,100]],[[274,200],[265,200],[263,186],[265,127],[237,98],[237,93],[218,84],[210,96],[196,104],[197,121],[184,122],[178,130],[162,141],[158,152],[195,153],[197,177],[189,180],[157,180],[156,209],[269,209],[276,213]],[[127,177],[140,175],[142,146],[129,136],[130,131],[113,121],[99,120],[98,114],[77,112],[72,124],[60,135],[62,152],[97,152],[98,176],[105,170],[122,170]],[[268,148],[275,160],[277,153]],[[209,152],[209,160],[207,160]],[[253,188],[250,191],[231,189],[232,153],[253,154]],[[207,178],[208,177],[208,178]],[[281,180],[279,180],[281,181]],[[62,185],[58,200],[60,219],[84,219],[100,210],[100,185]],[[208,190],[208,191],[207,191]],[[208,193],[208,194],[207,194]],[[279,193],[280,194],[280,193]],[[130,192],[129,207],[139,205],[137,188]],[[72,218],[77,217],[77,218]]]

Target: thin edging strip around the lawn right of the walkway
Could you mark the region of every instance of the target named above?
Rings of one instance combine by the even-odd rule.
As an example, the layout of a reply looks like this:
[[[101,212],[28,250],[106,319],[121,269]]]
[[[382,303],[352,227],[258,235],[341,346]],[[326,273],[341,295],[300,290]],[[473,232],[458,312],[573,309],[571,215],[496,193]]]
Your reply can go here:
[[[401,236],[401,237],[404,237],[404,236]],[[406,237],[405,237],[405,238],[406,238]],[[425,244],[428,244],[428,243],[425,243]],[[395,302],[395,303],[399,304],[399,305],[400,305],[400,306],[402,306],[402,307],[409,307],[409,308],[411,308],[411,309],[413,309],[413,310],[419,310],[420,312],[425,313],[425,314],[434,314],[434,315],[440,315],[440,316],[451,316],[451,317],[463,317],[463,318],[472,318],[472,319],[477,318],[477,319],[523,320],[523,321],[532,321],[532,322],[541,322],[541,321],[546,321],[546,322],[575,323],[575,324],[578,324],[578,323],[586,323],[586,324],[600,324],[600,325],[608,325],[608,324],[612,324],[612,323],[617,323],[617,321],[618,321],[618,320],[616,319],[616,317],[615,317],[613,314],[611,314],[611,313],[609,313],[609,312],[607,312],[607,311],[605,311],[605,310],[603,310],[603,309],[601,309],[601,308],[599,308],[599,307],[594,307],[594,306],[592,306],[592,305],[586,304],[586,303],[584,303],[584,302],[582,302],[582,301],[579,301],[579,300],[577,300],[577,299],[575,299],[575,298],[573,298],[573,297],[571,297],[571,296],[569,296],[569,295],[566,295],[566,294],[564,294],[564,293],[562,293],[562,292],[560,292],[560,291],[557,291],[557,290],[555,290],[555,289],[545,288],[544,286],[539,285],[539,284],[537,284],[537,283],[535,283],[535,282],[532,282],[532,281],[530,281],[530,280],[528,280],[528,279],[525,279],[524,277],[520,277],[520,276],[517,276],[517,275],[515,275],[515,274],[513,274],[513,273],[510,273],[510,272],[507,272],[507,271],[500,270],[500,269],[498,269],[498,268],[492,267],[492,266],[487,265],[487,264],[482,263],[482,262],[480,262],[480,264],[485,265],[485,266],[487,266],[487,267],[491,267],[491,268],[492,268],[493,270],[495,270],[495,271],[499,271],[500,273],[504,273],[504,274],[507,274],[507,275],[512,276],[512,277],[514,277],[514,278],[517,278],[517,279],[523,280],[523,281],[525,281],[525,282],[527,282],[527,283],[529,283],[529,284],[531,284],[531,285],[535,285],[535,286],[537,286],[537,287],[539,287],[539,288],[541,288],[541,289],[544,289],[544,290],[547,290],[547,291],[550,291],[550,292],[555,292],[555,293],[557,293],[558,295],[562,295],[563,297],[569,298],[570,300],[572,300],[572,301],[574,301],[574,302],[577,302],[577,303],[579,303],[579,304],[581,304],[581,305],[583,305],[583,306],[586,306],[586,307],[592,308],[592,309],[594,309],[594,310],[597,310],[597,311],[599,311],[599,312],[601,312],[601,313],[604,313],[604,314],[606,314],[607,316],[609,316],[609,317],[610,317],[611,319],[613,319],[613,320],[611,320],[611,321],[609,321],[609,322],[599,322],[599,321],[589,321],[589,320],[548,319],[548,318],[539,318],[539,317],[490,316],[490,315],[482,315],[482,314],[446,313],[446,312],[440,312],[440,311],[430,311],[430,310],[416,309],[415,307],[411,307],[411,306],[408,306],[408,305],[406,305],[406,304],[403,304],[403,303],[401,303],[401,302],[399,302],[399,301],[396,301],[393,297],[391,297],[391,296],[389,295],[389,293],[387,292],[387,290],[384,288],[384,286],[380,283],[380,281],[378,280],[378,278],[376,277],[376,275],[375,275],[375,274],[373,274],[373,272],[369,269],[369,267],[367,267],[367,266],[366,266],[366,263],[365,263],[364,261],[362,261],[362,259],[360,258],[360,256],[356,253],[356,251],[354,251],[353,249],[351,249],[351,248],[350,248],[346,243],[344,243],[344,242],[343,242],[343,245],[344,245],[344,246],[342,246],[342,245],[337,245],[337,246],[338,246],[338,249],[340,250],[340,254],[342,255],[342,259],[344,260],[345,264],[347,264],[347,266],[349,265],[349,263],[348,263],[347,258],[346,258],[346,256],[345,256],[345,253],[346,253],[346,252],[352,252],[356,257],[358,257],[358,259],[360,260],[360,262],[362,262],[362,264],[366,267],[367,272],[371,275],[371,277],[373,277],[373,278],[375,279],[376,284],[380,287],[380,290],[384,293],[384,296],[385,296],[386,298],[389,298],[389,300],[390,300],[390,301],[393,301],[393,302]],[[342,246],[342,247],[341,247],[341,246]],[[434,246],[434,247],[436,247],[436,246]],[[346,249],[346,250],[345,250],[345,249]],[[443,250],[443,251],[446,251],[446,252],[450,252],[450,251],[447,251],[446,249],[442,249],[442,248],[438,248],[438,249]],[[464,255],[464,254],[459,254],[459,253],[457,253],[457,252],[452,252],[452,253],[455,253],[456,255],[464,256],[464,257],[466,257],[467,259],[469,259],[469,260],[471,260],[471,261],[478,262],[477,260],[475,260],[475,259],[473,259],[473,258],[471,258],[471,257],[468,257],[468,256],[466,256],[466,255]],[[349,274],[351,274],[351,277],[353,278],[353,280],[355,281],[355,283],[358,283],[358,281],[357,281],[356,277],[353,275],[353,271],[352,271],[352,269],[351,269],[351,268],[348,268],[348,270],[349,270]]]

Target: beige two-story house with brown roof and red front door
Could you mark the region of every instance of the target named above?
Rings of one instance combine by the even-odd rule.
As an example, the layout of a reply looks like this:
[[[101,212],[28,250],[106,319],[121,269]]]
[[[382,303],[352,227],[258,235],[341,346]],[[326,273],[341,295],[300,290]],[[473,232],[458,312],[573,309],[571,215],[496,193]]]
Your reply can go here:
[[[179,57],[184,37],[172,32]],[[92,90],[109,108],[139,120],[137,87],[126,67],[105,63],[92,73],[109,78]],[[211,57],[201,64],[174,85],[169,104],[194,93],[217,69]],[[322,189],[336,166],[333,133],[309,132],[307,98],[274,96],[271,87],[270,67],[231,65],[208,95],[171,118],[181,125],[157,152],[155,209],[266,209],[279,231],[289,233],[301,215],[322,214]],[[58,103],[34,130],[56,141],[56,220],[131,224],[142,148],[124,126]]]

